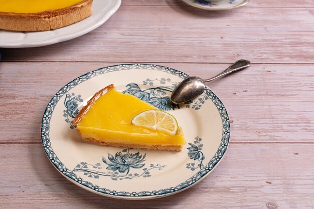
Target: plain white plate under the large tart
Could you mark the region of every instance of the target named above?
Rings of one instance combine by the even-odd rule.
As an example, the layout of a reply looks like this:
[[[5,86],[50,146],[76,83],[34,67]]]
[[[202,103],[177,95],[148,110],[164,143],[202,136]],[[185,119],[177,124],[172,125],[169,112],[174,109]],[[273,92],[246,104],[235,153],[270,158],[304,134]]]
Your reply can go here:
[[[121,0],[94,0],[92,16],[52,31],[14,32],[0,30],[0,47],[41,47],[77,38],[101,26],[118,10],[120,4]]]

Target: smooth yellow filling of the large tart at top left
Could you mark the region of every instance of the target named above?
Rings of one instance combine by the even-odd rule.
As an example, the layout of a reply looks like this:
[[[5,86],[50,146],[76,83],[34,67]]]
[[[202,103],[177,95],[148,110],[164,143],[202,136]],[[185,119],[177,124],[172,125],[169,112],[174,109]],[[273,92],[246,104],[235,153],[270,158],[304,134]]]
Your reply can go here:
[[[39,13],[73,6],[82,0],[0,0],[0,12]]]

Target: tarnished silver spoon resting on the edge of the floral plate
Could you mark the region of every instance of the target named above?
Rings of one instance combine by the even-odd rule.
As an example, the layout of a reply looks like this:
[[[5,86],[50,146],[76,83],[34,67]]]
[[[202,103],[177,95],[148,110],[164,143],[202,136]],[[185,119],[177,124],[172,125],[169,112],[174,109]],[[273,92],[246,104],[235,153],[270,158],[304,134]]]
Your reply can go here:
[[[196,76],[192,76],[187,79],[184,79],[172,92],[171,101],[175,104],[190,101],[203,93],[206,87],[205,82],[210,82],[222,76],[233,73],[237,70],[242,70],[244,68],[247,68],[250,66],[250,64],[251,62],[248,60],[238,60],[232,65],[230,65],[226,70],[224,70],[223,72],[219,73],[217,76],[214,76],[210,79],[203,80]]]

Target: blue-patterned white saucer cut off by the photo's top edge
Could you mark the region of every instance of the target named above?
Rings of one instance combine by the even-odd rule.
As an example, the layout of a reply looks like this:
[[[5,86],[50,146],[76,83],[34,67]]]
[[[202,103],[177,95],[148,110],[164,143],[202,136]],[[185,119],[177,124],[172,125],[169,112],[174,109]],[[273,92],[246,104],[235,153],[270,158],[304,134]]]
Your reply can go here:
[[[250,0],[182,0],[184,3],[203,10],[230,10],[246,5]]]

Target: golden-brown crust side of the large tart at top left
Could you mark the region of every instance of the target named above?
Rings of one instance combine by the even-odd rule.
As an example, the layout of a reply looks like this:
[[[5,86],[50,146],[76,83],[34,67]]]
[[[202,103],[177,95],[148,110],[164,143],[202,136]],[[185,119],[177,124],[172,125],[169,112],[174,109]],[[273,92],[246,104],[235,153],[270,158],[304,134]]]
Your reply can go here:
[[[49,31],[77,23],[92,15],[93,0],[40,13],[0,12],[0,29],[9,31]]]

